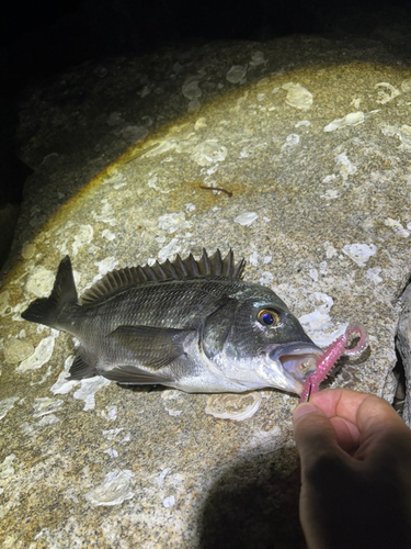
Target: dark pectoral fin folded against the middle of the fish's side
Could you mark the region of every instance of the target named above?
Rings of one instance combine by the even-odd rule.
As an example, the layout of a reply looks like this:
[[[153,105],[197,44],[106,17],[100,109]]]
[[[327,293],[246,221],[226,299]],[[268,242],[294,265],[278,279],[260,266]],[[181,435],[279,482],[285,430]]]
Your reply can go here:
[[[151,326],[118,326],[109,337],[130,351],[141,366],[157,370],[183,355],[186,337],[195,332]]]

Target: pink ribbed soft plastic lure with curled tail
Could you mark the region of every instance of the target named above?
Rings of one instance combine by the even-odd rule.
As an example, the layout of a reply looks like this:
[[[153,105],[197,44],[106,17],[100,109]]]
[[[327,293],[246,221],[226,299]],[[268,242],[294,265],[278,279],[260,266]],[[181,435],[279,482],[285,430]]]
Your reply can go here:
[[[347,349],[350,337],[357,333],[359,341],[355,347]],[[302,392],[299,402],[306,402],[311,393],[319,391],[319,384],[323,381],[334,367],[336,360],[342,355],[361,355],[368,347],[368,333],[366,328],[359,324],[350,324],[345,333],[333,341],[324,352],[317,359],[317,369],[302,385]]]

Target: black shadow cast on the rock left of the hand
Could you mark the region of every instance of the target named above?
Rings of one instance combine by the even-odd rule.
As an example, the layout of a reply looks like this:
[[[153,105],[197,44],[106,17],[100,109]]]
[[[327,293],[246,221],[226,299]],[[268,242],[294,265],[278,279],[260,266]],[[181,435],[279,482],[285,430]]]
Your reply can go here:
[[[213,486],[203,509],[202,549],[306,549],[298,517],[296,448],[247,456]]]

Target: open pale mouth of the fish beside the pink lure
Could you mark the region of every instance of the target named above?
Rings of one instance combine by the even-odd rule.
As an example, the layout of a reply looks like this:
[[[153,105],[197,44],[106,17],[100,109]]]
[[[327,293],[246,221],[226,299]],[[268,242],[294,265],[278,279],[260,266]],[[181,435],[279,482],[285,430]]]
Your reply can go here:
[[[304,383],[315,373],[317,359],[322,354],[317,345],[304,341],[282,345],[270,352],[270,358],[279,362],[296,381]]]

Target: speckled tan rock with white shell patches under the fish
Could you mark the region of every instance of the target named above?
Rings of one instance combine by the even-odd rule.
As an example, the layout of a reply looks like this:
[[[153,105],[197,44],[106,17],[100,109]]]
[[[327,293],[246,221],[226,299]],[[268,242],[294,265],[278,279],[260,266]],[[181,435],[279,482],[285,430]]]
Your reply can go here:
[[[33,90],[0,291],[3,547],[305,547],[295,395],[242,395],[260,407],[236,422],[203,394],[67,382],[72,339],[20,313],[67,254],[81,293],[113,268],[232,247],[319,345],[361,321],[370,348],[331,384],[392,401],[410,103],[411,70],[379,43],[305,37],[84,65]]]

